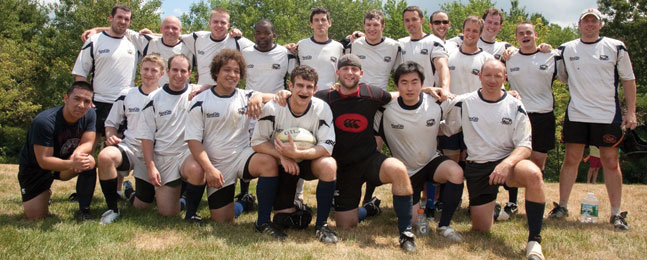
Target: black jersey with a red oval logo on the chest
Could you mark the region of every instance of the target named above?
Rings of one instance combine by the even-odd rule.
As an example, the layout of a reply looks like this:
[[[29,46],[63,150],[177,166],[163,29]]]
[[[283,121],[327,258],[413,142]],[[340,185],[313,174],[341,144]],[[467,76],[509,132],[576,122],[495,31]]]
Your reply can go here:
[[[339,164],[349,164],[375,153],[375,113],[391,101],[391,94],[379,87],[360,83],[357,92],[343,95],[336,90],[315,94],[330,105],[337,142],[332,156]]]

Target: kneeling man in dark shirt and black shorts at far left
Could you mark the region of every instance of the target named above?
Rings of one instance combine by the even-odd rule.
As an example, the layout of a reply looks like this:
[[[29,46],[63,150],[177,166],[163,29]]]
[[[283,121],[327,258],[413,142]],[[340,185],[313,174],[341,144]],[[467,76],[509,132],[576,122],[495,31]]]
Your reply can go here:
[[[96,114],[90,109],[92,94],[90,84],[74,82],[63,95],[63,106],[45,110],[34,118],[18,158],[18,183],[27,219],[42,219],[49,214],[54,180],[67,181],[77,175],[77,217],[89,218],[96,183],[91,154],[96,128]]]

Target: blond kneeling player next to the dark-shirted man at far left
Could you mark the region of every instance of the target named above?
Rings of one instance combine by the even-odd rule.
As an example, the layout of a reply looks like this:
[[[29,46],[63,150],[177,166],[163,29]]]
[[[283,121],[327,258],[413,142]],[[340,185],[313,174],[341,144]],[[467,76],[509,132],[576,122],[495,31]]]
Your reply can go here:
[[[142,59],[139,73],[142,85],[137,88],[124,89],[106,119],[106,148],[101,150],[97,157],[99,167],[99,183],[103,196],[106,198],[108,210],[101,216],[101,224],[114,222],[120,215],[116,194],[118,188],[118,176],[128,176],[133,170],[133,176],[137,184],[148,179],[146,165],[142,157],[141,141],[135,139],[133,132],[141,127],[145,121],[141,117],[141,111],[149,102],[149,99],[158,88],[158,81],[164,74],[165,62],[162,57],[150,54]],[[123,138],[117,135],[117,129],[126,124]],[[132,190],[125,190],[125,193]],[[125,194],[131,199],[132,193]],[[132,203],[135,208],[144,209],[152,206],[140,199],[142,194],[135,192]]]

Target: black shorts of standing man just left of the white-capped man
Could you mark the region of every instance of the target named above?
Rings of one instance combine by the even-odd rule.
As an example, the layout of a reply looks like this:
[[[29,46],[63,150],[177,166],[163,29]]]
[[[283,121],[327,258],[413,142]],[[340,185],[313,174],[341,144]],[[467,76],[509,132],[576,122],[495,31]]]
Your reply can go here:
[[[532,150],[548,153],[555,148],[555,113],[528,113],[532,128]]]

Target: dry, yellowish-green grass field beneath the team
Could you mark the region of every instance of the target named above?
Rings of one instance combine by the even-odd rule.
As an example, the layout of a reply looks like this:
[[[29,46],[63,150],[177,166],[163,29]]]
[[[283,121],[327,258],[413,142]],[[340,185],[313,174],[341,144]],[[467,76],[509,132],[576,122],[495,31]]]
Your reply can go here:
[[[111,225],[99,225],[105,201],[99,185],[94,194],[94,220],[76,222],[76,203],[67,202],[75,181],[55,182],[52,216],[27,221],[22,214],[16,165],[0,165],[0,259],[520,259],[527,238],[523,190],[519,192],[521,214],[494,225],[489,233],[470,231],[465,209],[457,212],[452,226],[465,242],[453,244],[435,233],[417,237],[418,251],[400,251],[395,213],[389,186],[376,194],[384,212],[360,223],[353,230],[337,230],[340,242],[325,245],[314,239],[314,230],[287,231],[289,238],[276,242],[253,230],[255,213],[244,214],[235,223],[205,225],[159,217],[155,211],[137,211],[121,202],[122,215]],[[129,177],[132,178],[132,177]],[[306,202],[314,205],[316,182],[306,183]],[[625,185],[623,209],[629,210],[630,230],[615,231],[608,224],[609,202],[603,184],[576,184],[566,221],[544,222],[542,246],[547,259],[645,259],[647,254],[647,189]],[[252,188],[254,190],[254,188]],[[507,192],[499,201],[507,201]],[[546,184],[547,204],[558,200],[558,184]],[[579,201],[587,191],[600,199],[600,223],[581,224]],[[199,212],[208,216],[206,200]],[[548,206],[546,214],[552,208]],[[329,222],[334,227],[334,221]],[[435,227],[435,224],[432,224]]]

